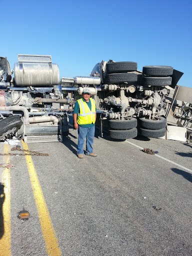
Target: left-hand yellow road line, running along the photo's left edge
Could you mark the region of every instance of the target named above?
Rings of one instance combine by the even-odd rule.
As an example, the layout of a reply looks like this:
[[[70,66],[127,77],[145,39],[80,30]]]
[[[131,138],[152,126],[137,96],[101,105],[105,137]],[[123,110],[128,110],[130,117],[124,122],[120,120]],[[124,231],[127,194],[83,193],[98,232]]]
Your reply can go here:
[[[4,153],[9,152],[9,145],[4,144]],[[9,155],[3,156],[3,162],[9,162]],[[10,256],[10,171],[4,168],[2,172],[2,184],[4,184],[4,202],[2,204],[3,235],[0,238],[0,256]]]

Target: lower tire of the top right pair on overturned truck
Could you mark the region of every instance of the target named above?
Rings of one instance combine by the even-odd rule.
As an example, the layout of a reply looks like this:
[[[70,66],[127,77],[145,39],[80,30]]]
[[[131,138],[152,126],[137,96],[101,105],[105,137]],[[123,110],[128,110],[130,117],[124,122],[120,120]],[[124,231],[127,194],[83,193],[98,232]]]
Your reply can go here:
[[[152,85],[152,86],[166,86],[171,85],[172,77],[164,76],[164,77],[151,77],[151,76],[143,76],[142,85]]]

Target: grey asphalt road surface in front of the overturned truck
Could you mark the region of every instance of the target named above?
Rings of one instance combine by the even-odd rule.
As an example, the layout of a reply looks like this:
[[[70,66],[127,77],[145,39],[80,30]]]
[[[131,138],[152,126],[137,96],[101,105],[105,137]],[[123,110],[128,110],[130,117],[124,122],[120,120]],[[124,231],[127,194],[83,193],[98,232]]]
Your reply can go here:
[[[10,156],[14,166],[9,168],[7,214],[12,256],[48,255],[44,232],[51,229],[62,255],[192,255],[191,143],[144,137],[114,141],[99,137],[96,130],[97,157],[78,159],[77,130],[70,129],[63,142],[27,145],[49,154],[32,156],[32,171],[38,176],[51,228],[43,224],[46,214],[41,204],[37,206],[38,196],[35,201],[35,180],[30,179],[25,156]],[[140,147],[158,153],[147,154]],[[0,144],[0,153],[3,150]],[[0,176],[2,171],[0,167]],[[29,212],[28,220],[17,217],[22,210]],[[2,221],[0,234],[1,240]],[[2,250],[1,254],[7,256]]]

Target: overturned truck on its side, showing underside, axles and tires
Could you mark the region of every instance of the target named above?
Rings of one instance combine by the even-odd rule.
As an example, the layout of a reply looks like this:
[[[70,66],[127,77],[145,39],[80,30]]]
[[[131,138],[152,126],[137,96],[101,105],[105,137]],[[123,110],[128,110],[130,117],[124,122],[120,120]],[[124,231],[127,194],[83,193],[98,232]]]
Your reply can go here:
[[[20,54],[13,70],[0,57],[0,139],[61,141],[75,93],[84,86],[95,99],[101,134],[107,121],[111,138],[162,137],[181,75],[171,66],[144,66],[141,72],[136,62],[102,60],[90,76],[59,80],[51,56]]]

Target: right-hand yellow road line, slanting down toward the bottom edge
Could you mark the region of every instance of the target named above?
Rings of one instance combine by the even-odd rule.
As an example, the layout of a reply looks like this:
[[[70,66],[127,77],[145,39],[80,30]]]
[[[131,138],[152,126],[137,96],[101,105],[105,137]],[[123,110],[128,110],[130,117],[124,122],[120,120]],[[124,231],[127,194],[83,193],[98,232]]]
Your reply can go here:
[[[23,149],[28,150],[27,144],[24,143],[23,141],[22,146]],[[32,157],[30,155],[26,155],[25,159],[30,176],[30,182],[34,194],[34,200],[38,212],[41,230],[45,242],[46,252],[49,256],[60,256],[62,255],[62,253],[60,251],[58,240],[53,225],[51,223],[51,219],[40,187],[38,176],[36,174],[34,164],[32,162]]]

